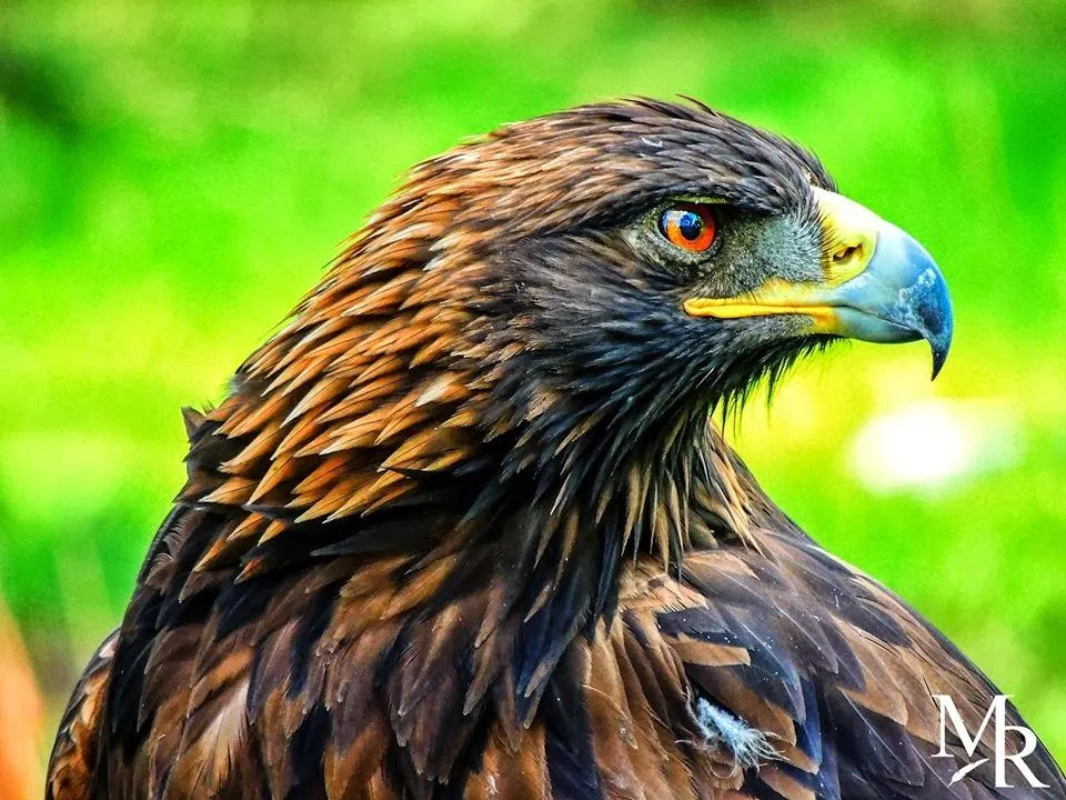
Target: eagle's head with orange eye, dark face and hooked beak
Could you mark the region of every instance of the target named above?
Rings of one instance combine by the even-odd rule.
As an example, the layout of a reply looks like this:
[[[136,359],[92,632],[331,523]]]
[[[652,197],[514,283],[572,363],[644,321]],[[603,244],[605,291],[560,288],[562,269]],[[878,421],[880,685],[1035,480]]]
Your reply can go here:
[[[506,362],[494,407],[542,428],[542,453],[573,430],[560,416],[632,447],[842,337],[926,339],[934,377],[947,354],[928,253],[836,193],[812,154],[710,109],[581,108],[423,173],[469,203],[446,242],[485,262],[477,358]]]

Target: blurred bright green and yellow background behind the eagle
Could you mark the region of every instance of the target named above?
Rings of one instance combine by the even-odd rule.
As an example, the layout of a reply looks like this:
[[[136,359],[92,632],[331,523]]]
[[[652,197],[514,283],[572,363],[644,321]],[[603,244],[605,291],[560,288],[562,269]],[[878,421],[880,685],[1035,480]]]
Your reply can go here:
[[[0,599],[44,738],[181,484],[179,408],[221,397],[409,166],[690,94],[815,149],[941,262],[935,384],[919,346],[839,348],[731,436],[1066,757],[1064,41],[1054,0],[6,3]]]

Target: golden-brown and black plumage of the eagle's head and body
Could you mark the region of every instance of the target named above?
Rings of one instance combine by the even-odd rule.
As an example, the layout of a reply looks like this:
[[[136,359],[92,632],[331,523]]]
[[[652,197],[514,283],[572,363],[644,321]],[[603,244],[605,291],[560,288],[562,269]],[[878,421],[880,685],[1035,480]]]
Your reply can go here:
[[[832,190],[777,137],[653,101],[416,168],[187,412],[188,483],[49,797],[1010,794],[990,766],[949,786],[958,742],[932,758],[932,696],[973,730],[996,689],[708,422],[842,334],[943,359],[935,269],[904,310],[751,310],[882,269],[894,234],[864,252]],[[680,246],[664,209],[695,226]],[[1028,763],[1064,797],[1045,750]]]

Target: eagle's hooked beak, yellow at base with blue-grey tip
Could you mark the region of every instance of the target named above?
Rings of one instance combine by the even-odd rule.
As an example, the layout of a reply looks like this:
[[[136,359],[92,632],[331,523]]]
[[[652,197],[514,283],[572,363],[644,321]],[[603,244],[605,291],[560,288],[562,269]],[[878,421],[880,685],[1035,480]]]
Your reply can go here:
[[[823,280],[772,279],[736,298],[693,298],[693,317],[804,314],[812,333],[871,342],[925,339],[936,378],[952,344],[947,284],[925,248],[845,197],[814,189],[823,227]]]

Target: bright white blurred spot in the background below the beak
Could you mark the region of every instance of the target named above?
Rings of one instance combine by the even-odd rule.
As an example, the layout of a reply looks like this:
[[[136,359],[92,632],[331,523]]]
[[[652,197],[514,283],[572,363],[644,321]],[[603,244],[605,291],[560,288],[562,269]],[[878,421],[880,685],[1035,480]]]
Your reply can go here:
[[[849,466],[876,492],[928,491],[1022,458],[1018,417],[998,400],[929,400],[881,414],[852,441]]]

